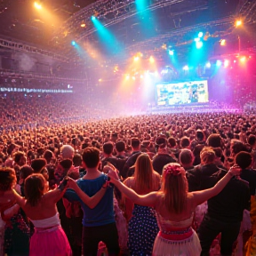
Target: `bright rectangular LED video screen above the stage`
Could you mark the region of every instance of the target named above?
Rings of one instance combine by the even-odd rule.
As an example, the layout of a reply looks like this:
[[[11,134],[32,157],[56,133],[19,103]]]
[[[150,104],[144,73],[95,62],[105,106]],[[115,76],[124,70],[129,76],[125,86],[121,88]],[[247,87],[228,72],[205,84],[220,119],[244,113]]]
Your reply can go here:
[[[207,80],[176,84],[156,84],[157,106],[205,103],[208,101]]]

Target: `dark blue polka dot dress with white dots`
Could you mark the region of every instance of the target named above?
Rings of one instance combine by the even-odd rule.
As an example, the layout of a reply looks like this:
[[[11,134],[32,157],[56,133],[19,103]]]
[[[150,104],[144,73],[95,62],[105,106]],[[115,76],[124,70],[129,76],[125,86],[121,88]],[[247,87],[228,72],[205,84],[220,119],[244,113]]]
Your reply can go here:
[[[134,204],[128,224],[128,248],[131,256],[151,256],[158,231],[155,210]]]

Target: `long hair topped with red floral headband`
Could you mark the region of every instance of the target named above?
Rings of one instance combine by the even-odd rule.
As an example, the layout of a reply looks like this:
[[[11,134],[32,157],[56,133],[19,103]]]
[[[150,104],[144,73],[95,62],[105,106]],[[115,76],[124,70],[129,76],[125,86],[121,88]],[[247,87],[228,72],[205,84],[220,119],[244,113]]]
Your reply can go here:
[[[164,204],[169,212],[179,214],[186,210],[188,180],[184,168],[177,163],[164,165]]]

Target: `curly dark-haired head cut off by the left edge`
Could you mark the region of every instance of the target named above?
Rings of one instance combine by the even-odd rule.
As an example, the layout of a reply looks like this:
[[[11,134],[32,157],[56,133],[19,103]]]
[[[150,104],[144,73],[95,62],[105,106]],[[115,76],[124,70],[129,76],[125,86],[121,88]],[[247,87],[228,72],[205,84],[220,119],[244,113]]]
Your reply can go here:
[[[0,168],[0,191],[7,191],[14,187],[16,184],[16,174],[12,168]]]

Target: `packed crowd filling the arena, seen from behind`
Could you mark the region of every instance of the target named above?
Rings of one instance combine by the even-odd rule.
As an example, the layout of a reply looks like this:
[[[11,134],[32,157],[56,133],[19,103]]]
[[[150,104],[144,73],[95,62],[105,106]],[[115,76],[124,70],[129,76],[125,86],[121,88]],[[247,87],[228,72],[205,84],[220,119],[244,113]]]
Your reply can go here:
[[[254,115],[45,115],[0,133],[1,256],[256,254]]]

